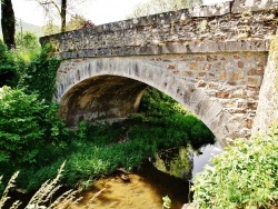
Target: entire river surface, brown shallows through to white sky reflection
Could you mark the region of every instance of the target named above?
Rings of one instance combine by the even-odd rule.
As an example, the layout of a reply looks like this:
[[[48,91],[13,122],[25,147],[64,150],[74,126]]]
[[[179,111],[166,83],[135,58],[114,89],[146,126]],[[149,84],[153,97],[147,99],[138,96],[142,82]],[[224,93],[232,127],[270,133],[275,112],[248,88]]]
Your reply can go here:
[[[187,148],[173,150],[173,153],[169,155],[171,160],[163,159],[165,165],[161,159],[149,159],[139,171],[132,173],[117,171],[110,177],[99,179],[81,193],[83,199],[73,208],[161,209],[162,197],[168,196],[172,202],[171,209],[181,209],[186,202],[191,200],[189,186],[192,177],[222,149],[219,143],[216,143],[206,146],[200,153],[185,150]],[[168,152],[170,151],[168,150]],[[188,157],[186,163],[183,163],[185,156]],[[160,167],[158,161],[160,161]],[[190,171],[186,172],[183,167],[190,168]],[[128,178],[127,181],[121,178],[122,175]],[[90,201],[100,190],[102,192]]]

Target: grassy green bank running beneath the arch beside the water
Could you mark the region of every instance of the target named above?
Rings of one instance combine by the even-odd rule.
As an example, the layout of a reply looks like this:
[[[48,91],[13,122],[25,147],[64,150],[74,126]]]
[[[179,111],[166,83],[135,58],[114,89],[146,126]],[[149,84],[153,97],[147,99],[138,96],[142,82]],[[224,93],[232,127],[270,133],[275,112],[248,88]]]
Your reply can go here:
[[[57,141],[54,147],[44,145],[37,157],[40,166],[23,169],[19,183],[29,190],[36,189],[43,180],[53,178],[66,159],[63,182],[71,186],[111,173],[117,168],[138,169],[159,150],[187,146],[191,143],[190,138],[196,138],[190,126],[200,121],[191,115],[179,117],[145,116],[143,122],[132,118],[112,125],[81,122],[71,140]],[[214,142],[214,135],[205,137]]]

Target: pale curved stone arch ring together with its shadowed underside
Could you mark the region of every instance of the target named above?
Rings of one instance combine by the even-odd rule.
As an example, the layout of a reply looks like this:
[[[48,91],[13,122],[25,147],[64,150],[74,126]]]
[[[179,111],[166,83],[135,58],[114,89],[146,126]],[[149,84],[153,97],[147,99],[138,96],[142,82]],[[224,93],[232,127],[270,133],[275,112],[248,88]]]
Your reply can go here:
[[[91,88],[93,86],[100,89],[99,92]],[[64,60],[58,70],[54,99],[61,103],[60,115],[69,123],[75,125],[86,116],[96,115],[96,111],[90,111],[93,108],[99,111],[98,116],[93,116],[95,119],[125,117],[125,115],[136,111],[141,92],[147,86],[167,93],[196,113],[222,146],[227,138],[239,136],[240,126],[237,127],[230,120],[231,113],[226,111],[219,100],[210,97],[206,89],[199,88],[198,80],[176,76],[171,67],[153,64],[143,57]],[[119,94],[121,88],[125,94],[113,96],[113,93]],[[107,96],[101,94],[103,92]],[[103,104],[105,100],[109,101],[109,97],[112,97],[112,101],[119,98],[126,102],[130,100],[130,102],[127,106],[123,102],[115,106]],[[96,101],[96,106],[93,106],[93,101]],[[88,104],[93,108],[86,108]],[[110,112],[103,111],[100,106],[110,108]],[[121,107],[129,111],[122,111]]]

